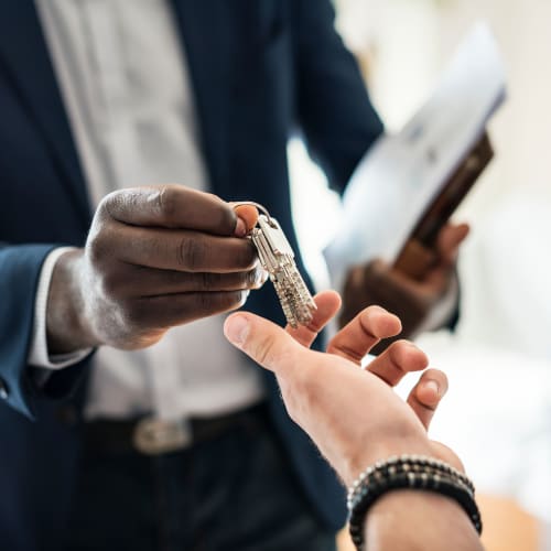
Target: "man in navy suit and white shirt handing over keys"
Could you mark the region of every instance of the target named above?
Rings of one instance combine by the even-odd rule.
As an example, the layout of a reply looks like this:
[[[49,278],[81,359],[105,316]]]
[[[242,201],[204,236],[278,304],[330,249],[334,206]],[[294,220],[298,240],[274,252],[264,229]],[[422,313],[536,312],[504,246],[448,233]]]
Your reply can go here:
[[[225,201],[296,249],[289,134],[342,192],[382,132],[328,0],[4,3],[0,114],[2,548],[334,549],[334,474],[215,338],[262,282]]]

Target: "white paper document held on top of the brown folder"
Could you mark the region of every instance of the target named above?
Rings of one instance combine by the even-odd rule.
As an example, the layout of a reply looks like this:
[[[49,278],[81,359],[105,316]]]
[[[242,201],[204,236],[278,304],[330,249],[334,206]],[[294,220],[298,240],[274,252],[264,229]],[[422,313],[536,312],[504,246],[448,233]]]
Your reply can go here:
[[[429,100],[403,129],[382,136],[358,164],[343,197],[343,225],[324,250],[333,284],[349,267],[392,263],[418,220],[482,139],[506,94],[490,30],[477,23]]]

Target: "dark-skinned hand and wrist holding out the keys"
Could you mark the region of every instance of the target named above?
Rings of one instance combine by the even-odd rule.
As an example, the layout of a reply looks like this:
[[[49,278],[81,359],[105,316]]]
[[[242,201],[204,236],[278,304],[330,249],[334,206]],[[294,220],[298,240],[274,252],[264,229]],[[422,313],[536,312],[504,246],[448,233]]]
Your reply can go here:
[[[244,239],[256,217],[253,207],[182,185],[109,194],[85,247],[55,266],[48,350],[143,348],[170,327],[239,307],[264,280]]]

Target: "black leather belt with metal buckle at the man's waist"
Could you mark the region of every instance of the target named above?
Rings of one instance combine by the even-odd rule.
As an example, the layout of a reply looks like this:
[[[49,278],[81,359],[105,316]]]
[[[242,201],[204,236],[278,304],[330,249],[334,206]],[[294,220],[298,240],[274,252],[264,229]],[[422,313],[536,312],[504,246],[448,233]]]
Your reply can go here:
[[[85,424],[85,445],[90,450],[121,454],[138,452],[160,455],[192,447],[216,439],[239,425],[267,420],[266,404],[213,418],[191,418],[165,421],[154,417],[136,420],[98,420]]]

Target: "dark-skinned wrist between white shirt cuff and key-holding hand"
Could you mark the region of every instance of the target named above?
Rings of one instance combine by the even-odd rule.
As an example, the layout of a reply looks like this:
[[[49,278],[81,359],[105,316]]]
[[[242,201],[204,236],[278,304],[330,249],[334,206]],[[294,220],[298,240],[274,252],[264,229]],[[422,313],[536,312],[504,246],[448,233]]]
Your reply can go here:
[[[83,249],[62,255],[52,273],[46,304],[46,336],[51,354],[67,354],[100,344],[86,316]]]

